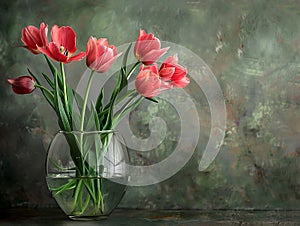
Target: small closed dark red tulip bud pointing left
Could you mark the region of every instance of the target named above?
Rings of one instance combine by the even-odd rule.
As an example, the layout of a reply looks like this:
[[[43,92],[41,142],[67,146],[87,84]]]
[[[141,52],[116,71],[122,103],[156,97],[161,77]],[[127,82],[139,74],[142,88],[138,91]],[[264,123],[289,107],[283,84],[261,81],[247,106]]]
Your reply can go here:
[[[35,89],[35,80],[29,75],[7,79],[7,81],[17,94],[29,94]]]

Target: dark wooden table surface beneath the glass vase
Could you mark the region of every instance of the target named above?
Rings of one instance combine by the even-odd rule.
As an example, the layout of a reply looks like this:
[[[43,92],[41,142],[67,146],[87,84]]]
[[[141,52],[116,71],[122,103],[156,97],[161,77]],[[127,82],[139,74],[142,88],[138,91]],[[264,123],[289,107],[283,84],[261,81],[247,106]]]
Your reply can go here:
[[[69,220],[60,209],[0,209],[0,225],[300,225],[300,211],[116,209],[101,221]]]

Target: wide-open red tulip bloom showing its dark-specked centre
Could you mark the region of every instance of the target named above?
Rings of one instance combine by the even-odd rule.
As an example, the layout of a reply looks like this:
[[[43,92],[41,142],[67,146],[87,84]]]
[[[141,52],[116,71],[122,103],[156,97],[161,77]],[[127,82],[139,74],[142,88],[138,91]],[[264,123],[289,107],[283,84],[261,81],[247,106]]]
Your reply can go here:
[[[62,26],[59,28],[54,25],[51,29],[51,38],[52,42],[46,47],[39,47],[38,49],[53,60],[70,63],[81,60],[85,56],[84,52],[73,56],[76,52],[76,34],[71,27]]]

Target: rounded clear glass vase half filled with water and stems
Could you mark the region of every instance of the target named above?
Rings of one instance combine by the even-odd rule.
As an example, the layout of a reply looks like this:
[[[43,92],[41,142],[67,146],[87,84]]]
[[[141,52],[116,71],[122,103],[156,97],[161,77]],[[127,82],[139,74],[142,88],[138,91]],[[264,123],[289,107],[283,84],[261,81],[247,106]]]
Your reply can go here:
[[[105,219],[125,193],[128,161],[114,131],[59,131],[47,154],[48,188],[69,218]]]

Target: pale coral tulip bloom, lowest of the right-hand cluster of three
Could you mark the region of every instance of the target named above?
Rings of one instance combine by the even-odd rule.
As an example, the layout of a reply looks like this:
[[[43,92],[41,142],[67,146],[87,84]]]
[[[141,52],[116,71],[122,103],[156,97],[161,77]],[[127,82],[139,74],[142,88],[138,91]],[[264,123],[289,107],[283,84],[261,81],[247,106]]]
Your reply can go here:
[[[163,90],[169,89],[168,83],[162,81],[158,75],[157,65],[149,67],[141,66],[141,70],[135,80],[136,90],[144,97],[154,97]]]

